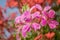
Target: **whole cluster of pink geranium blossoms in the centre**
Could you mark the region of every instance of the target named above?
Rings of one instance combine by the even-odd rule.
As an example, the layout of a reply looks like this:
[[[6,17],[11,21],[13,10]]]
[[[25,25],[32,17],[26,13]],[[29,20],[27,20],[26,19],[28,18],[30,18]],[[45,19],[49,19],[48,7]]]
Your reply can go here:
[[[37,8],[39,11],[31,13],[34,8]],[[26,33],[30,32],[32,29],[37,31],[46,25],[49,26],[50,29],[56,28],[59,23],[54,20],[55,11],[51,9],[50,6],[46,6],[44,8],[41,5],[36,4],[29,10],[23,12],[21,16],[15,18],[15,24],[19,24],[18,29],[21,27],[21,30],[18,30],[22,33],[23,37],[26,37]],[[39,20],[39,22],[36,22]],[[16,26],[17,27],[17,26]]]

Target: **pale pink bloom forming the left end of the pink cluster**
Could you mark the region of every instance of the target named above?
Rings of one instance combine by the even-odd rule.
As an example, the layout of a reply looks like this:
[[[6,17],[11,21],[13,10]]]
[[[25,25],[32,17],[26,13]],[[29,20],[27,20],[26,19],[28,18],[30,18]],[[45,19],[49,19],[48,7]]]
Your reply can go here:
[[[25,23],[31,21],[31,14],[29,11],[25,11],[21,16],[15,18],[15,23]]]

